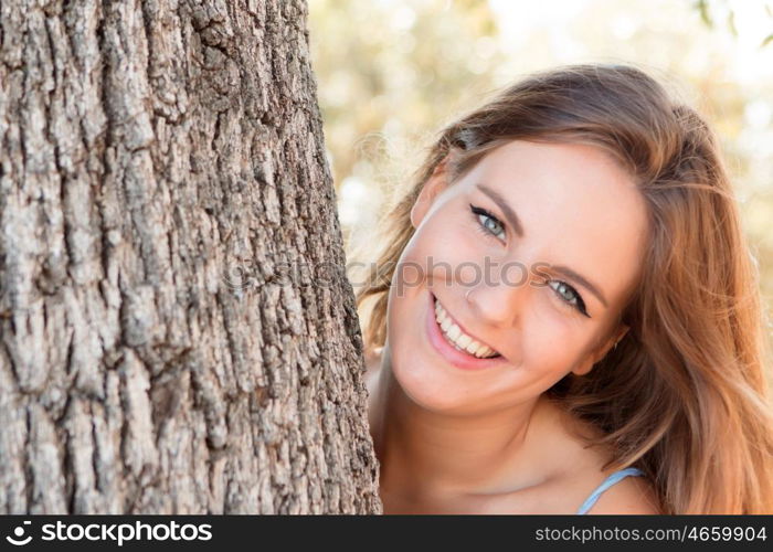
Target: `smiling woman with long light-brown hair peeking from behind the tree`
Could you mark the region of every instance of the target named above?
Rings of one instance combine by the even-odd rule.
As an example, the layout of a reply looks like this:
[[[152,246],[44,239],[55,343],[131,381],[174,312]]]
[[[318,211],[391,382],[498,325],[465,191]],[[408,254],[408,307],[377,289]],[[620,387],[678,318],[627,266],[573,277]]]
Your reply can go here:
[[[755,264],[714,136],[652,77],[504,89],[383,244],[357,299],[385,513],[773,512]]]

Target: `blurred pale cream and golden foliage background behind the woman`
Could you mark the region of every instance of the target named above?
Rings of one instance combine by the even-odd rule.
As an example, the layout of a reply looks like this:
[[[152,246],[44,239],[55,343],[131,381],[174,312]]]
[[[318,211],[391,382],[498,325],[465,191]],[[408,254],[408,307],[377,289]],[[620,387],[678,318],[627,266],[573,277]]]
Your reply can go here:
[[[718,131],[771,319],[773,2],[309,0],[309,38],[349,251],[459,110],[534,70],[634,62]]]

